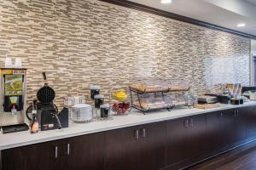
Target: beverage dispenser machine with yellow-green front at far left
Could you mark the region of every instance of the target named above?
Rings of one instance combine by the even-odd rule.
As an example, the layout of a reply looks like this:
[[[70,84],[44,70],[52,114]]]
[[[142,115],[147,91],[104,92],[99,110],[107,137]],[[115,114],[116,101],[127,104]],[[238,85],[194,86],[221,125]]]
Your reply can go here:
[[[0,69],[0,127],[3,133],[28,130],[25,123],[26,69]]]

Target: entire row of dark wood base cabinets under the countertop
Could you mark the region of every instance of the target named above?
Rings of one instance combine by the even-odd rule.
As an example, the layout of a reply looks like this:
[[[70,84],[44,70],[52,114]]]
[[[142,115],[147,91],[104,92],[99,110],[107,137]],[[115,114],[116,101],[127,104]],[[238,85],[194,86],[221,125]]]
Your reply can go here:
[[[178,169],[249,137],[256,106],[0,150],[0,170]]]

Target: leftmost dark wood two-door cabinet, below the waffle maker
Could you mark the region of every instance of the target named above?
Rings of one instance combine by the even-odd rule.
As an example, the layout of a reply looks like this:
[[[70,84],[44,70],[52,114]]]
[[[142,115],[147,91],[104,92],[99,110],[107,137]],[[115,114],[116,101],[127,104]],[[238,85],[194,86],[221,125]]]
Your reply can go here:
[[[3,150],[3,170],[104,169],[104,133]]]

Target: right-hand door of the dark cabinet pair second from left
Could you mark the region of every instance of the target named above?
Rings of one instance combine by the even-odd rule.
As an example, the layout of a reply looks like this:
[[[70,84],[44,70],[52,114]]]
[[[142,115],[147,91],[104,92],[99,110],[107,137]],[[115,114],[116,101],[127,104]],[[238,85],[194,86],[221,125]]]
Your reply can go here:
[[[155,170],[165,167],[166,122],[140,127],[140,168]]]

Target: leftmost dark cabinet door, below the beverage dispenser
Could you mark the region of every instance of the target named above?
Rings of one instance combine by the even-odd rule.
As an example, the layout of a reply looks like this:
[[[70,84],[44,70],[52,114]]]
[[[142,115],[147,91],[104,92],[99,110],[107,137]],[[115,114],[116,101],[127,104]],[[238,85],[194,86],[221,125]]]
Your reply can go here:
[[[61,167],[58,142],[33,144],[10,150],[2,150],[3,170],[55,170]],[[58,153],[57,153],[58,152]],[[56,157],[55,157],[56,154]]]

